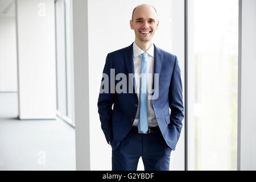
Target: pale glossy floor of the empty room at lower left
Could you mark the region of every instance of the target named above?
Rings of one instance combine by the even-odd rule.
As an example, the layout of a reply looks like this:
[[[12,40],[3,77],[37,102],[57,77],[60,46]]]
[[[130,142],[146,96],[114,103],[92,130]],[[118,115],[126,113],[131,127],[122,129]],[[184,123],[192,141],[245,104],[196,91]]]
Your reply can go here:
[[[75,129],[17,117],[17,93],[0,93],[0,170],[75,170]]]

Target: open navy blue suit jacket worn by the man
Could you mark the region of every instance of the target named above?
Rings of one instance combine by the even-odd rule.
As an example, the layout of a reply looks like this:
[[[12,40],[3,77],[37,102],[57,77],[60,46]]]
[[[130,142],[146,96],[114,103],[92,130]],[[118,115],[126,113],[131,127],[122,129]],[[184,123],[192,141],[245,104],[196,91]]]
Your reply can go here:
[[[115,69],[115,75],[125,73],[127,85],[133,79],[133,93],[129,93],[128,86],[126,93],[110,93],[110,69]],[[115,148],[129,133],[138,109],[135,78],[129,79],[128,75],[134,73],[133,44],[108,53],[103,73],[109,76],[109,93],[99,94],[98,113],[105,138]],[[156,120],[164,140],[171,150],[175,150],[184,118],[180,68],[175,55],[163,51],[155,44],[154,73],[159,73],[159,96],[152,100]],[[104,78],[102,78],[103,80]],[[116,85],[118,82],[115,80],[114,84]],[[154,81],[153,88],[155,84],[157,83]]]

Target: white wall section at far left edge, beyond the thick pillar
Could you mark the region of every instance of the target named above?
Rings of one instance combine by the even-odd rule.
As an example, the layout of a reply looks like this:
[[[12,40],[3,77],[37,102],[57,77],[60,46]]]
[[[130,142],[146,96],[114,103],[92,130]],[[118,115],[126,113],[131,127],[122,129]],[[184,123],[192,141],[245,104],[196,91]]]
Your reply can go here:
[[[15,17],[0,16],[0,27],[0,92],[16,92]]]

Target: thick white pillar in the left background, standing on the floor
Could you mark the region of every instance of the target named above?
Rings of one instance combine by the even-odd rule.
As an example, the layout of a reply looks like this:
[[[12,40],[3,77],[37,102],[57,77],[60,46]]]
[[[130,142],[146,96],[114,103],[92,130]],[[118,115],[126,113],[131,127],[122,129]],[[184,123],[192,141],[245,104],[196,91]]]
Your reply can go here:
[[[20,119],[56,118],[54,0],[16,1]]]

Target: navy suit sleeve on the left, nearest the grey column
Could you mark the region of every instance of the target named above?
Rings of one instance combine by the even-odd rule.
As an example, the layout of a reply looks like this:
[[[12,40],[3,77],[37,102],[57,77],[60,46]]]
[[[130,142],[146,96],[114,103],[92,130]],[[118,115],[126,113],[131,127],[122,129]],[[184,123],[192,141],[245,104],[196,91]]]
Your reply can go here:
[[[112,63],[110,59],[110,54],[106,57],[106,63],[104,67],[103,73],[105,73],[106,76],[108,76],[107,81],[105,82],[108,84],[108,92],[103,92],[99,94],[98,96],[98,113],[100,115],[100,121],[101,121],[101,129],[104,132],[105,138],[107,142],[110,144],[112,141],[112,105],[114,103],[114,93],[110,93],[110,69],[112,69]],[[102,74],[103,75],[103,74]],[[105,78],[102,77],[101,82]],[[101,85],[101,89],[102,89]],[[105,87],[106,85],[104,85]]]

